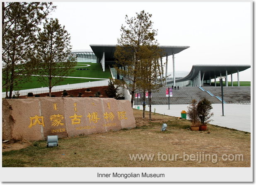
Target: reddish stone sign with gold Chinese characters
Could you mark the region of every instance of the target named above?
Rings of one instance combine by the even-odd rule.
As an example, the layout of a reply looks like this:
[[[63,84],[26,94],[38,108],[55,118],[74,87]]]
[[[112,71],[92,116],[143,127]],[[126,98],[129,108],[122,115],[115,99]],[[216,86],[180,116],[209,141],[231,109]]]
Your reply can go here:
[[[134,128],[128,100],[36,97],[2,100],[2,139],[46,140]]]

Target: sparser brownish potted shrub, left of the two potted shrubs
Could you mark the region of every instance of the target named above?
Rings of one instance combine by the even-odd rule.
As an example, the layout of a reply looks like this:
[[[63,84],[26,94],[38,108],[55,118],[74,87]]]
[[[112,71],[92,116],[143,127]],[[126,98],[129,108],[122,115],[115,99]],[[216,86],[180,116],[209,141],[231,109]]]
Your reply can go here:
[[[197,104],[195,99],[193,99],[191,104],[188,106],[187,115],[192,123],[190,126],[191,130],[198,131],[200,126],[200,119],[198,116]]]

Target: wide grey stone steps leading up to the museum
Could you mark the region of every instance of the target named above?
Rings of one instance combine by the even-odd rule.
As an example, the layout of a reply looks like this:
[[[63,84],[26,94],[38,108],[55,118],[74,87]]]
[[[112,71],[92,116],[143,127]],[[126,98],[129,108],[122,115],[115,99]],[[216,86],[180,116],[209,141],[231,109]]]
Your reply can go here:
[[[211,103],[221,103],[216,96],[221,97],[220,87],[181,87],[179,90],[172,90],[173,96],[170,97],[170,104],[191,104],[195,99],[197,102],[206,98]],[[166,97],[166,88],[160,88],[159,92],[152,92],[152,105],[168,104],[168,97]],[[142,96],[140,99],[134,100],[134,105],[142,104]],[[225,102],[251,102],[251,87],[223,87],[223,99]],[[146,98],[148,105],[148,98]]]

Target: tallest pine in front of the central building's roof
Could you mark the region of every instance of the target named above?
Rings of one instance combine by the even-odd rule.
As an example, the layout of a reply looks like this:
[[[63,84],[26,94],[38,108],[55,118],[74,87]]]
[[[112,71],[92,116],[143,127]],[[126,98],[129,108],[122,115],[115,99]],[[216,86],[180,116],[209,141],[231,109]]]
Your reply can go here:
[[[145,45],[152,43],[157,35],[157,31],[152,28],[151,17],[152,14],[145,13],[144,10],[140,14],[136,13],[136,17],[131,19],[126,15],[128,28],[121,26],[121,38],[118,38],[114,54],[115,69],[119,75],[123,76],[123,81],[119,82],[119,85],[131,91],[132,106],[135,91],[138,89],[136,83],[140,80],[138,76],[140,63],[149,57],[145,52]]]

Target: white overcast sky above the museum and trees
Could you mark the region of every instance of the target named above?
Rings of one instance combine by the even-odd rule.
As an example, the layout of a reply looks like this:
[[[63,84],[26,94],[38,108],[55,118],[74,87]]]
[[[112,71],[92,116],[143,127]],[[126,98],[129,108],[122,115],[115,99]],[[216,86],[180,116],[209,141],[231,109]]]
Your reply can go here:
[[[152,14],[159,45],[190,46],[175,55],[176,71],[193,64],[251,64],[251,2],[53,2],[51,17],[70,33],[72,50],[117,44],[125,16]],[[169,56],[168,72],[172,69]],[[239,74],[251,80],[251,69]],[[233,74],[237,80],[237,74]],[[230,81],[230,77],[229,77]]]

